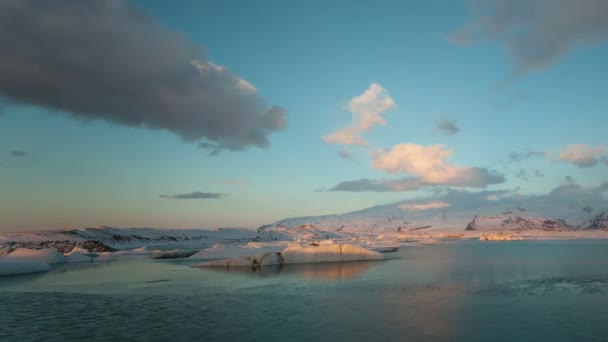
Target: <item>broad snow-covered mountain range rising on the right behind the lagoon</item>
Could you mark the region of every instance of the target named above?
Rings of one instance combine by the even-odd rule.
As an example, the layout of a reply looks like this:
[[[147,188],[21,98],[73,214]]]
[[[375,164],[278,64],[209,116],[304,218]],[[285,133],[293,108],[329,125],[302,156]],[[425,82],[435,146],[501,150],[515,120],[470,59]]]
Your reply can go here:
[[[477,194],[477,195],[475,195]],[[402,201],[345,214],[287,218],[258,228],[260,234],[319,236],[459,231],[608,229],[608,210],[536,197],[496,200],[488,192],[452,192],[442,201]],[[474,197],[475,196],[475,197]],[[449,200],[449,201],[448,201]]]

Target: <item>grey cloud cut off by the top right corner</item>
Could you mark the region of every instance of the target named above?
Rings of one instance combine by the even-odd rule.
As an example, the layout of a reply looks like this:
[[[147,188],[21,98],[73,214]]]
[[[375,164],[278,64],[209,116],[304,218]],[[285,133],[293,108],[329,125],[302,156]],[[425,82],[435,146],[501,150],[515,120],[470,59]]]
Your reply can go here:
[[[475,1],[472,21],[448,39],[502,44],[515,62],[512,77],[550,66],[578,47],[608,39],[608,1]]]

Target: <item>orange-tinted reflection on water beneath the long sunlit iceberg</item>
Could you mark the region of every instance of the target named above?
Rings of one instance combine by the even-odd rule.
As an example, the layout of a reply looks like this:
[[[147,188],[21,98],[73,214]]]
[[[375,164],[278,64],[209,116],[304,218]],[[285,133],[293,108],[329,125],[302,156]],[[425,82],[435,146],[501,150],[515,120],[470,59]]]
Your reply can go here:
[[[378,264],[378,262],[336,262],[262,267],[206,267],[199,269],[259,277],[299,276],[307,279],[338,280],[355,278],[375,264]]]

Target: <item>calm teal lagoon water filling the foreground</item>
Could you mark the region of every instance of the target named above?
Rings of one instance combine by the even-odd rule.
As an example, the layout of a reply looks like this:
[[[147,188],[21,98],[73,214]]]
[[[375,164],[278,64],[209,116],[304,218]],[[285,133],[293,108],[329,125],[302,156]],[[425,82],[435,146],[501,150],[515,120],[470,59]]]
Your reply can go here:
[[[458,241],[402,259],[0,278],[0,341],[606,341],[608,241]]]

